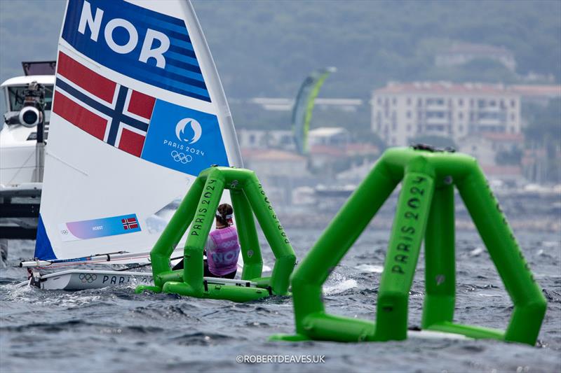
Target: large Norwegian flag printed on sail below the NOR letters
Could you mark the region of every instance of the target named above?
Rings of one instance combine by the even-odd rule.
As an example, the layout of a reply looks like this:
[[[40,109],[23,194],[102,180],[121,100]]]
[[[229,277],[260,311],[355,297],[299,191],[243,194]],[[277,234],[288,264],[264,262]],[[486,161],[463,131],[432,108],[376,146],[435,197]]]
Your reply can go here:
[[[140,157],[155,101],[59,52],[53,113],[97,139]]]

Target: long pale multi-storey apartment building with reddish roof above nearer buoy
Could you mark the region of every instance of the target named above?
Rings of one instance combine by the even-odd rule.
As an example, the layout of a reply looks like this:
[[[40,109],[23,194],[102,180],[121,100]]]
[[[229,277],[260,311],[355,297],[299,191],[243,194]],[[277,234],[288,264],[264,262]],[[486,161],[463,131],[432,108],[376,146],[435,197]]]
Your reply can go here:
[[[389,146],[421,135],[459,143],[482,133],[520,133],[520,93],[482,83],[388,83],[372,92],[372,131]]]

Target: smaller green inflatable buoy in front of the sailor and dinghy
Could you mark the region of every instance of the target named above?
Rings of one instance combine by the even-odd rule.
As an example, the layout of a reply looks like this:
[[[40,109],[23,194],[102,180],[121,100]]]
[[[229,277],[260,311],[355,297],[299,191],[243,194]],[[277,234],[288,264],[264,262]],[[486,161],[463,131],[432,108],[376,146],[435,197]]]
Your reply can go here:
[[[224,189],[229,189],[243,256],[242,280],[255,286],[224,286],[203,278],[203,249],[215,220]],[[253,214],[269,242],[276,262],[271,277],[261,277],[263,260]],[[192,224],[191,224],[192,223]],[[184,247],[184,269],[170,269],[170,256],[189,228]],[[201,171],[170,223],[150,252],[154,286],[138,286],[136,293],[151,290],[188,297],[247,302],[270,295],[287,295],[296,262],[290,241],[253,171],[210,167]]]

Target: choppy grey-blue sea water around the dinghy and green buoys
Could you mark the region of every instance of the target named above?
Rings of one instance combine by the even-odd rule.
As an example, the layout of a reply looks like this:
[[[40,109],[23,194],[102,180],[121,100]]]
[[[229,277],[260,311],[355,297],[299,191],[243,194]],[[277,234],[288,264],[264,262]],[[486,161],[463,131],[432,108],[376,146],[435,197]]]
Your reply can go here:
[[[320,230],[288,232],[299,258]],[[548,311],[539,346],[474,340],[420,340],[338,344],[267,342],[294,332],[290,298],[248,304],[175,295],[135,295],[133,287],[46,292],[16,288],[15,268],[31,258],[33,241],[13,241],[0,271],[2,372],[153,371],[408,371],[560,372],[560,234],[517,232]],[[374,319],[388,232],[367,230],[325,283],[333,314]],[[263,241],[263,240],[262,240]],[[475,232],[457,234],[455,321],[506,328],[511,300]],[[272,255],[265,248],[266,265]],[[419,325],[424,258],[410,297],[410,325]],[[239,364],[238,355],[321,355],[325,364]]]

